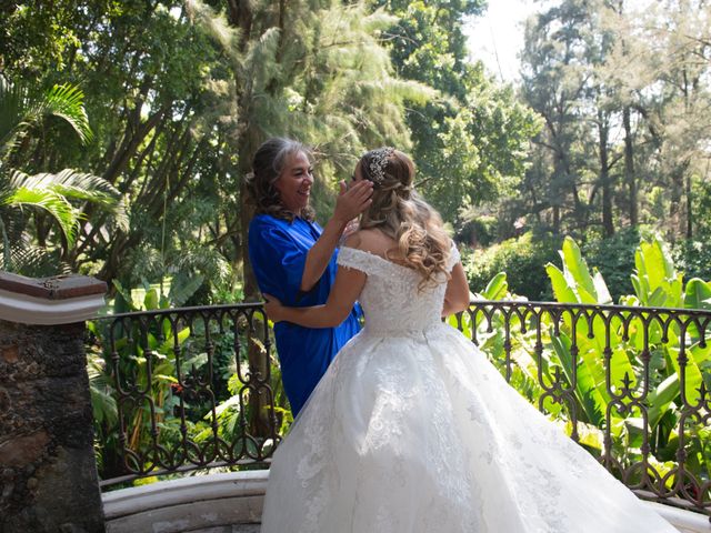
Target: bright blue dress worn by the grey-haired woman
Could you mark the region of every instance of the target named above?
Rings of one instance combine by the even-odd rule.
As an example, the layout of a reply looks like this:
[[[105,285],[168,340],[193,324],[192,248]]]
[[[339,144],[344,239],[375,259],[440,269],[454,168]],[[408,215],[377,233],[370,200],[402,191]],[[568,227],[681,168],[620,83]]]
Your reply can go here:
[[[307,253],[322,231],[316,222],[300,218],[288,222],[269,214],[254,217],[249,225],[249,259],[259,289],[289,306],[326,303],[336,280],[338,250],[313,289],[300,290]],[[357,305],[338,328],[310,329],[289,322],[274,325],[281,378],[294,416],[339,350],[360,330],[359,314]]]

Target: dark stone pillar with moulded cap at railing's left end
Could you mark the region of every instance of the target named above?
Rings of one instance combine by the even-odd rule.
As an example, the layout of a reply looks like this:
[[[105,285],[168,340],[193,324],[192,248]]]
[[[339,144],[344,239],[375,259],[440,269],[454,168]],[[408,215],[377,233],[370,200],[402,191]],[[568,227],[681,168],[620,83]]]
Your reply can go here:
[[[0,272],[0,531],[104,532],[84,320],[106,283]]]

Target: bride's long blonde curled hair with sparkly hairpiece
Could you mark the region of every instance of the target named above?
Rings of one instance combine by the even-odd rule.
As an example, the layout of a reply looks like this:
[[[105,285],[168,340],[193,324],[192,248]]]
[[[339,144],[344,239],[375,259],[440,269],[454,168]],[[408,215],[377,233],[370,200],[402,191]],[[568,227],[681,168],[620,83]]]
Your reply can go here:
[[[413,189],[414,163],[394,149],[365,153],[358,162],[361,175],[374,183],[372,203],[361,229],[378,229],[398,243],[395,259],[422,274],[418,289],[449,280],[451,240],[440,214]],[[388,252],[388,259],[393,259]]]

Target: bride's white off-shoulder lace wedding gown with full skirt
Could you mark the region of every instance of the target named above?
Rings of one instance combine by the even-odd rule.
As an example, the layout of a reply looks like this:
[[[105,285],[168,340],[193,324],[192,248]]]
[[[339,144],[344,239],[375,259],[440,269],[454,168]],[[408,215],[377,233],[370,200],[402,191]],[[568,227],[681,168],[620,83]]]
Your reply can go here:
[[[365,326],[276,451],[262,533],[677,531],[441,322],[445,284],[419,293],[356,249],[338,262],[368,274]]]

